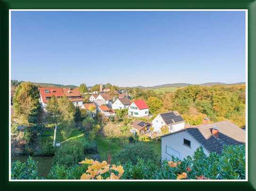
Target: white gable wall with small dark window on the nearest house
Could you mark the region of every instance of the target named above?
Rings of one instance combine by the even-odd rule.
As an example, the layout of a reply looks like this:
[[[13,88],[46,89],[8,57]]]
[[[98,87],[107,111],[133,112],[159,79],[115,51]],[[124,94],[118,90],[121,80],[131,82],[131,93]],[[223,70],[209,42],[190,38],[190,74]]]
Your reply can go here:
[[[187,145],[183,145],[184,138],[190,141],[190,147]],[[167,146],[167,152],[166,152],[166,146]],[[199,146],[201,146],[201,144],[185,130],[162,137],[162,141],[161,141],[162,161],[171,160],[172,159],[171,153],[173,153],[173,155],[176,155],[176,157],[178,157],[181,160],[187,157],[188,155],[192,156]],[[204,148],[204,153],[206,155],[209,155],[209,152],[205,148]]]

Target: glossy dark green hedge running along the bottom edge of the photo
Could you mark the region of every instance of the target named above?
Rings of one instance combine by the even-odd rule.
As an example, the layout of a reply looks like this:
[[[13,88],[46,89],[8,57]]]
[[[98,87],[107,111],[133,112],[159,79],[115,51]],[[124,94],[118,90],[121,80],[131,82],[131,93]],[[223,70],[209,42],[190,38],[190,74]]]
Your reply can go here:
[[[120,162],[115,164],[120,165]],[[163,161],[161,166],[149,158],[136,158],[136,161],[124,162],[123,168],[121,179],[245,179],[245,145],[225,146],[221,154],[210,153],[209,156],[199,147],[193,156],[183,160],[173,157],[172,161]],[[56,163],[47,178],[80,179],[87,169],[86,164],[67,167]],[[13,162],[11,178],[38,179],[37,162],[31,158],[26,163]]]

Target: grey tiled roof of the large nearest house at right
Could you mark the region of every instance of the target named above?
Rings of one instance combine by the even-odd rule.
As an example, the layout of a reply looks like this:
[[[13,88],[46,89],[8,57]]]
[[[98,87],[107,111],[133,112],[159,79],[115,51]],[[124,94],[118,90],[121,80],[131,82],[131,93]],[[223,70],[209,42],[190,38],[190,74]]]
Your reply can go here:
[[[211,130],[215,127],[217,127],[219,130],[219,138],[215,138],[212,135]],[[190,135],[197,139],[198,142],[203,145],[209,152],[221,153],[224,145],[245,144],[245,131],[230,121],[198,125],[192,128],[185,128],[183,130],[189,132]],[[173,133],[178,133],[180,131]]]

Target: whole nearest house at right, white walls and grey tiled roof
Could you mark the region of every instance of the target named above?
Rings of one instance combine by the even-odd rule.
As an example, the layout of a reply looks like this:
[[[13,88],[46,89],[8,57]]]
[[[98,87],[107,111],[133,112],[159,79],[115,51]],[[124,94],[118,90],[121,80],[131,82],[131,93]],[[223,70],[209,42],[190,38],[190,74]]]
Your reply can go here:
[[[161,136],[162,160],[184,159],[202,146],[204,153],[221,153],[224,145],[245,144],[245,131],[230,121],[202,124]]]

